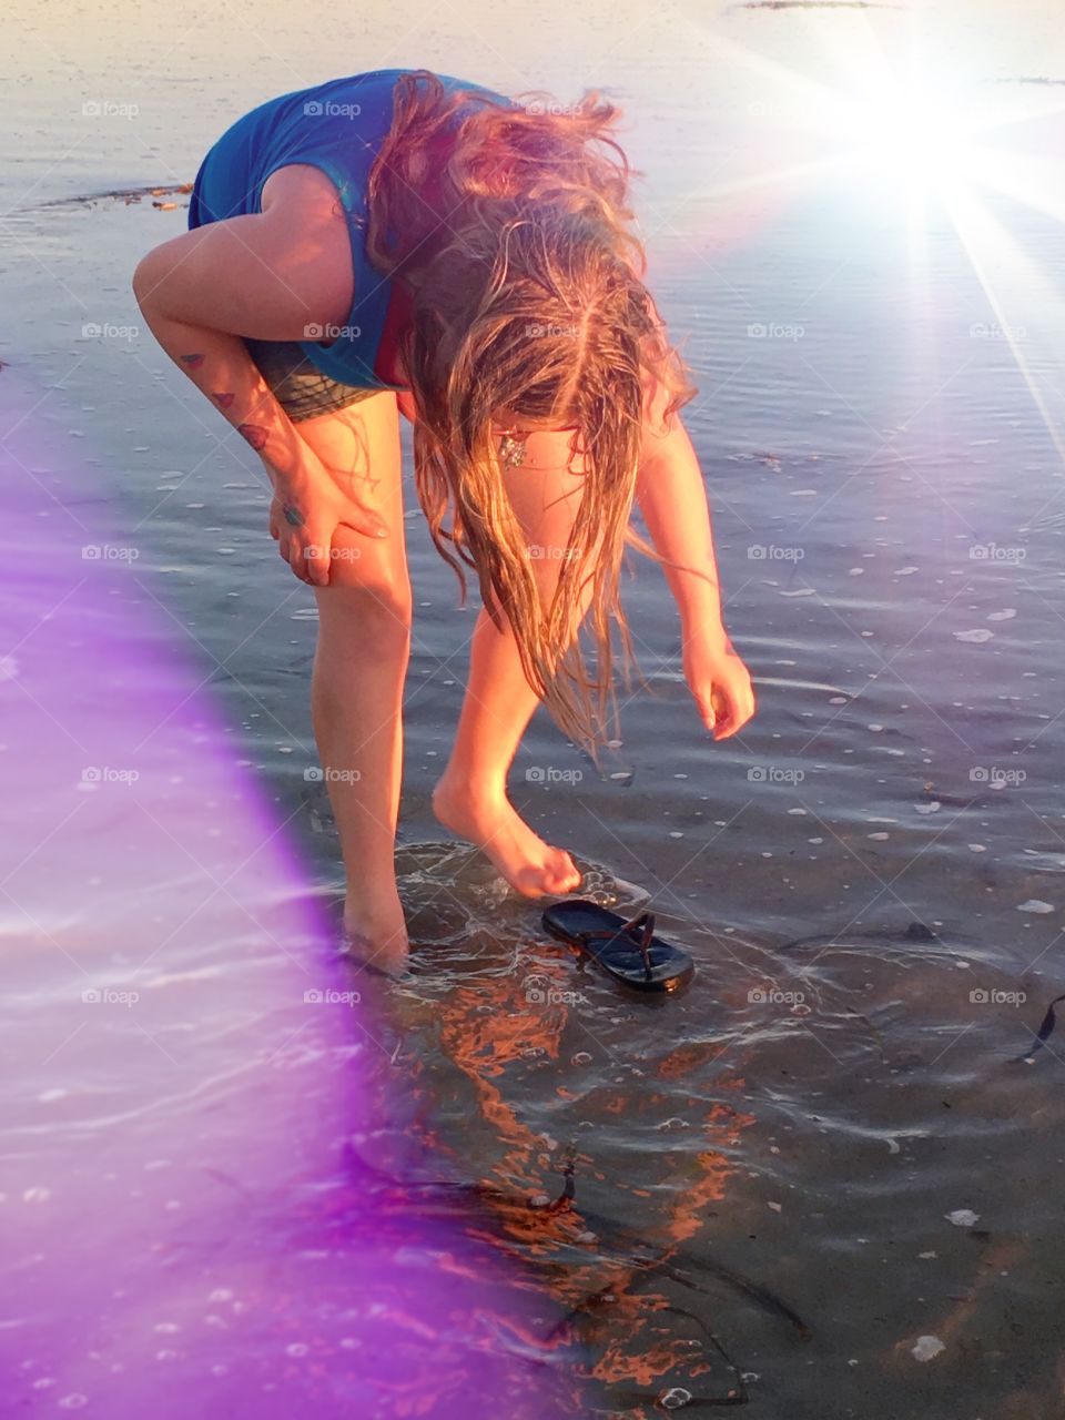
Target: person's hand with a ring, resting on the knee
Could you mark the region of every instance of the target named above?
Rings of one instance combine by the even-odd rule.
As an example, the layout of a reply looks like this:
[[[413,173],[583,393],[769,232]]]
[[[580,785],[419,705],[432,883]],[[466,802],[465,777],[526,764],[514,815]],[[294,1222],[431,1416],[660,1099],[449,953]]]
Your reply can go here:
[[[317,462],[308,450],[307,463]],[[328,586],[332,535],[338,527],[354,528],[366,537],[388,535],[382,518],[342,493],[322,464],[320,477],[312,469],[302,469],[297,481],[280,474],[266,460],[263,463],[274,484],[270,535],[293,574],[308,586]]]

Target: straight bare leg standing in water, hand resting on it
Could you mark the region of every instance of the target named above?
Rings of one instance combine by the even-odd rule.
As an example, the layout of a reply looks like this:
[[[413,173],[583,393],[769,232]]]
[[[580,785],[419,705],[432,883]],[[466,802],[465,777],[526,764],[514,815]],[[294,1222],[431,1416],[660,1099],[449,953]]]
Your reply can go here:
[[[412,606],[395,395],[375,395],[298,427],[328,469],[358,479],[359,498],[388,525],[379,541],[337,530],[329,585],[315,588],[311,710],[346,872],[344,924],[366,960],[390,970],[408,950],[395,835]]]

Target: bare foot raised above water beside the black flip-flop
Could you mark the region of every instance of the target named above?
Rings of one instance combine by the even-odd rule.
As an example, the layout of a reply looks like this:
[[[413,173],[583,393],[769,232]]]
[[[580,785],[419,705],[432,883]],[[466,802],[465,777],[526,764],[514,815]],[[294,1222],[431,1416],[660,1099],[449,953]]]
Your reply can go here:
[[[534,834],[506,792],[479,795],[446,771],[433,790],[433,812],[444,828],[476,843],[523,897],[574,892],[581,883],[569,853]]]

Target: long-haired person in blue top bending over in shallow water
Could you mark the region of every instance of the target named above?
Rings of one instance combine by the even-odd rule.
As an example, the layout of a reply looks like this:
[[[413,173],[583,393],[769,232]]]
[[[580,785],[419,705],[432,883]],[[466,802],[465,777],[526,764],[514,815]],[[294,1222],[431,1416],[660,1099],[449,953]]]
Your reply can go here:
[[[619,111],[528,106],[426,70],[284,94],[209,151],[187,233],[138,264],[146,322],[263,459],[270,531],[315,591],[315,738],[346,869],[345,929],[408,950],[393,849],[410,584],[399,412],[433,541],[483,611],[439,819],[530,897],[572,858],[507,798],[542,700],[592,751],[609,733],[626,542],[676,598],[687,684],[716,738],[754,713],[721,622],[694,393],[628,230]],[[629,528],[633,497],[655,551]],[[578,630],[595,642],[588,669]]]

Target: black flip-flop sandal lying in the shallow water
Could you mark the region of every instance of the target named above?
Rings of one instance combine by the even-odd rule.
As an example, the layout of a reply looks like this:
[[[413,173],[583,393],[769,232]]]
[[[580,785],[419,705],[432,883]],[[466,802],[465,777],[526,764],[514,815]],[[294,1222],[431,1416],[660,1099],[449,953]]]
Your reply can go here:
[[[596,966],[638,991],[679,991],[696,974],[692,957],[655,936],[655,914],[619,917],[586,897],[557,902],[544,910],[552,937],[588,953]]]

